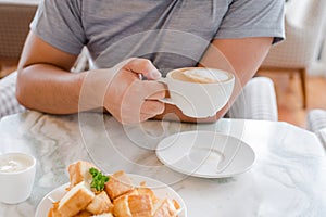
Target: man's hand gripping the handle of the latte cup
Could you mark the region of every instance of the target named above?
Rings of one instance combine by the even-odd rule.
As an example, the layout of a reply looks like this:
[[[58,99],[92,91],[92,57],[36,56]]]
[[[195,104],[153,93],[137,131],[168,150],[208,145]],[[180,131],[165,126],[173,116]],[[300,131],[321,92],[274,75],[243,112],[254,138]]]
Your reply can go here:
[[[103,106],[122,124],[147,120],[163,113],[165,86],[154,81],[161,77],[155,66],[146,59],[130,59],[114,68],[106,87]],[[110,72],[112,73],[112,72]],[[141,80],[140,75],[148,80]]]

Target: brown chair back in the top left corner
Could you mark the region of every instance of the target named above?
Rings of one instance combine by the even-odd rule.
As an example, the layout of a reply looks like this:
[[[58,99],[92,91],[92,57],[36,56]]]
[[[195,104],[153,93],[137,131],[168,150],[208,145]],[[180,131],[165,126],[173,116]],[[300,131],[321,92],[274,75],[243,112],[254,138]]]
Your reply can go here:
[[[37,5],[0,4],[0,72],[16,65]],[[0,74],[0,78],[5,75]]]

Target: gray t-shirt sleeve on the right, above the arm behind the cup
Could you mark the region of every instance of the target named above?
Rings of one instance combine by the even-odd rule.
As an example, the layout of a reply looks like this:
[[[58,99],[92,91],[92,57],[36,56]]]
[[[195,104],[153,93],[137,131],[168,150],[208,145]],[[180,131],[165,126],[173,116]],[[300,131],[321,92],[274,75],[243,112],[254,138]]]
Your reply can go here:
[[[284,0],[234,0],[215,38],[285,38]]]

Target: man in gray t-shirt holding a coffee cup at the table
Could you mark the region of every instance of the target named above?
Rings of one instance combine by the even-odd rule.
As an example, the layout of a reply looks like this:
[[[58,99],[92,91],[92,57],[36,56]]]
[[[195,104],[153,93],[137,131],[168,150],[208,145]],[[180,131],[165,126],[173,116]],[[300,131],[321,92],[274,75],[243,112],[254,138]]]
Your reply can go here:
[[[16,97],[52,114],[103,108],[123,124],[168,113],[183,122],[216,120],[284,38],[283,20],[283,0],[45,0],[20,61]],[[85,46],[96,67],[70,73]],[[233,71],[228,105],[195,119],[159,101],[165,87],[155,79],[201,65]]]

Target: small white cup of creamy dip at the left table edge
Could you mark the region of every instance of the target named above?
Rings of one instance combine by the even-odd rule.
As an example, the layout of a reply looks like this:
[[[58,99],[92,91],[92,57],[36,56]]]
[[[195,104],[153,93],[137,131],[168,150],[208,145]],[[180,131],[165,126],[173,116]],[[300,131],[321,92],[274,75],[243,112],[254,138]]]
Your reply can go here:
[[[0,202],[17,204],[30,196],[36,159],[25,153],[0,155]]]

